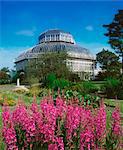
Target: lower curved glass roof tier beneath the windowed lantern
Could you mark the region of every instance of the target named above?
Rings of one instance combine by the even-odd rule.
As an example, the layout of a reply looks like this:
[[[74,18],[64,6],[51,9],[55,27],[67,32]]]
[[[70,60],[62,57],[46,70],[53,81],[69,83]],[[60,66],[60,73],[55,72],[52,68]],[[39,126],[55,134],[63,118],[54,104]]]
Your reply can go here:
[[[22,61],[24,59],[36,58],[40,53],[56,51],[66,51],[70,57],[74,58],[94,60],[94,57],[90,54],[89,50],[79,45],[65,42],[48,42],[38,44],[35,47],[27,50],[25,53],[18,56],[15,62]]]

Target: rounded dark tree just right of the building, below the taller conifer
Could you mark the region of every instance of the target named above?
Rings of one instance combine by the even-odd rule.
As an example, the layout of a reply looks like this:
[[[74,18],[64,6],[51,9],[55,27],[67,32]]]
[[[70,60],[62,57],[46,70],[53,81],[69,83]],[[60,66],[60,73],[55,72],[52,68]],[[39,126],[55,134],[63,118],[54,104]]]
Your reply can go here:
[[[113,52],[103,49],[101,52],[96,54],[96,61],[102,69],[102,72],[98,74],[100,78],[119,76],[121,65],[119,62],[119,57]]]

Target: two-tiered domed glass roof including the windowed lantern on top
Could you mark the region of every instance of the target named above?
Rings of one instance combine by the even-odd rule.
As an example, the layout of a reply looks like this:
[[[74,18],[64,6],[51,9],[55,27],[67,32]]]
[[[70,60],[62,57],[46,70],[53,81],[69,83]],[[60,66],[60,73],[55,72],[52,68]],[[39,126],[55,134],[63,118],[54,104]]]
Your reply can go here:
[[[39,36],[39,44],[19,55],[15,63],[25,59],[36,58],[41,53],[56,51],[66,51],[73,58],[94,60],[88,49],[75,44],[73,36],[69,32],[54,29],[42,33]]]

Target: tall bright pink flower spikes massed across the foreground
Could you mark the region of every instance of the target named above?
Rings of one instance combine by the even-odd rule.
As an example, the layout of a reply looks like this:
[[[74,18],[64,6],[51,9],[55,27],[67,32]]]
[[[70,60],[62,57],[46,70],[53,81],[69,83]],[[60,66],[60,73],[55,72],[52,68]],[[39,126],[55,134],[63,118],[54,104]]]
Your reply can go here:
[[[119,110],[112,113],[111,128],[107,130],[103,103],[93,109],[67,103],[58,96],[54,104],[50,95],[40,106],[34,101],[31,107],[20,104],[12,112],[4,107],[2,119],[7,149],[111,149],[109,136],[115,148],[120,146]]]

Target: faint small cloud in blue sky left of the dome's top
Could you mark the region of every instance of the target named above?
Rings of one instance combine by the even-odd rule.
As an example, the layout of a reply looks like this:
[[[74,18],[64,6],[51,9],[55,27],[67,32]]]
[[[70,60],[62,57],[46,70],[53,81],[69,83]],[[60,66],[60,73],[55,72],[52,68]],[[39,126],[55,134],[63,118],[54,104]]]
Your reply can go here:
[[[23,35],[23,36],[34,36],[36,28],[33,27],[32,29],[24,29],[16,32],[16,35]]]

